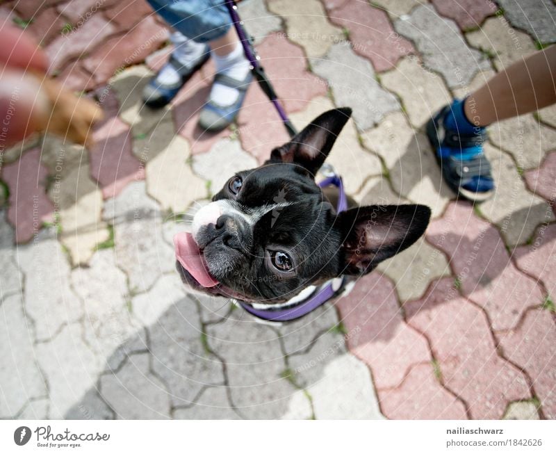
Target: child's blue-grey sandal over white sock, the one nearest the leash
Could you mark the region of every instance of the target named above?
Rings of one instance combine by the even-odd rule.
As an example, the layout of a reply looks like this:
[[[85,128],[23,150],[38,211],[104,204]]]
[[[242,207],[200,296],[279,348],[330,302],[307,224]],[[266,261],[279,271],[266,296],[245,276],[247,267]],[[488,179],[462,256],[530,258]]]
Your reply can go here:
[[[238,99],[230,106],[221,106],[209,99],[199,114],[199,127],[205,131],[217,132],[222,131],[222,129],[225,129],[229,124],[234,122],[238,116],[243,100],[245,99],[245,93],[252,79],[253,76],[251,72],[247,73],[243,81],[232,79],[226,74],[216,74],[213,83],[218,82],[224,86],[236,88],[239,92]]]

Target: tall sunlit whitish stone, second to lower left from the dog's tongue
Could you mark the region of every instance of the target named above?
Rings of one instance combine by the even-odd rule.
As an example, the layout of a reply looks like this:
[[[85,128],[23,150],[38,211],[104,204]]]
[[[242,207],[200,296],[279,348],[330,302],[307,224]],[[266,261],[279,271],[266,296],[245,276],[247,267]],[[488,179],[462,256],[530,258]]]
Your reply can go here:
[[[114,250],[95,252],[90,266],[73,270],[72,284],[85,302],[85,339],[104,363],[138,330],[127,307],[126,275],[115,264]]]

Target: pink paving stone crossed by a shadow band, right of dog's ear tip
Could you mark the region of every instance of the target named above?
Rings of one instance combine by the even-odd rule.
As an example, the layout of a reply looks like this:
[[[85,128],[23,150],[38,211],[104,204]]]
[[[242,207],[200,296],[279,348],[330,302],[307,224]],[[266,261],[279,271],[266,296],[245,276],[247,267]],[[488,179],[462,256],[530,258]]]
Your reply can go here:
[[[477,218],[471,204],[450,203],[426,237],[448,254],[462,291],[484,308],[493,330],[512,329],[543,300],[540,286],[514,266],[498,231]]]

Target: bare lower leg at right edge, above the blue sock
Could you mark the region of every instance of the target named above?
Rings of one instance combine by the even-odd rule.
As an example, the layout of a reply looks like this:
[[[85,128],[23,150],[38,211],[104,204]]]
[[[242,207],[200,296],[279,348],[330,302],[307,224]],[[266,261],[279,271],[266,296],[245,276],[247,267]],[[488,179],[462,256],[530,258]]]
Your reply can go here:
[[[471,93],[464,104],[468,120],[487,126],[556,102],[556,45],[518,61]]]

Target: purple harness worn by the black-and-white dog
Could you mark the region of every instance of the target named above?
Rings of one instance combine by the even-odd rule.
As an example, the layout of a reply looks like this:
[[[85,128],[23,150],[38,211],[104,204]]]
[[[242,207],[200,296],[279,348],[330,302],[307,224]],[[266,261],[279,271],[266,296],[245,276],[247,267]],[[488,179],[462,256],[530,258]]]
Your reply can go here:
[[[320,188],[325,188],[326,186],[336,186],[338,188],[338,206],[336,206],[336,211],[341,213],[347,210],[347,197],[345,196],[345,190],[343,188],[343,183],[341,177],[338,177],[335,173],[323,181],[320,181],[318,186]],[[247,304],[243,301],[238,301],[239,305],[243,307],[250,314],[262,318],[266,321],[273,322],[286,322],[300,318],[309,312],[313,311],[317,307],[322,306],[328,300],[334,298],[334,296],[341,293],[347,282],[345,276],[332,279],[327,282],[320,289],[314,291],[308,298],[300,302],[293,302],[291,305],[281,305],[280,307],[268,307],[268,309],[256,309],[252,305]],[[295,298],[293,298],[295,300]]]

